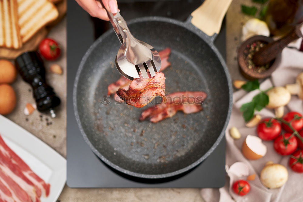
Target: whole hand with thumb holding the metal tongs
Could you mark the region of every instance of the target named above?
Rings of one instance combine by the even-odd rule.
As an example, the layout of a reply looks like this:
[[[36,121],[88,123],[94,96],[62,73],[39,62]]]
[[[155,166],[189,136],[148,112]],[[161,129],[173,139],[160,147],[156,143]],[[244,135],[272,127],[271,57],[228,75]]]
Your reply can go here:
[[[118,12],[117,0],[102,0],[103,6],[99,0],[75,0],[86,12],[92,17],[100,18],[102,20],[109,20],[106,10],[115,14]],[[105,10],[106,9],[106,10]]]

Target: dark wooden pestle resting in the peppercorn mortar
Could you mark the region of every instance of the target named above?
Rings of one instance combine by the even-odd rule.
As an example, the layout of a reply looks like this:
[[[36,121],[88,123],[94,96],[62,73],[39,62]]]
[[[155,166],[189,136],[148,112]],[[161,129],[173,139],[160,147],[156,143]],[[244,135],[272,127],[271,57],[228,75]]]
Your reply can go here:
[[[257,66],[262,66],[275,59],[276,56],[282,52],[282,50],[292,41],[302,37],[299,27],[295,27],[291,32],[285,35],[283,38],[269,43],[261,48],[258,52],[255,52],[252,61]]]

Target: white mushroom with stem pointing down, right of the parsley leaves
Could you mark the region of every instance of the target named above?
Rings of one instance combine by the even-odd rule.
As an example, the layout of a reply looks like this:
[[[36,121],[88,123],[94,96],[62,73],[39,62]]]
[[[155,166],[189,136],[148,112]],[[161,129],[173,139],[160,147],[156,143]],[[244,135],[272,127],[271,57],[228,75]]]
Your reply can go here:
[[[284,87],[274,87],[267,91],[269,103],[266,106],[269,109],[275,109],[275,116],[281,118],[284,115],[284,106],[291,99],[291,94]]]

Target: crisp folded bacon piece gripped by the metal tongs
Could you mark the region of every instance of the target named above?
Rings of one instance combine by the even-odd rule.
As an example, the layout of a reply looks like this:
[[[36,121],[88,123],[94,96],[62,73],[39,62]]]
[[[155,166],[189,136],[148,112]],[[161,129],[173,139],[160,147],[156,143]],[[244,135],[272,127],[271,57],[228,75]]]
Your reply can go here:
[[[148,72],[149,74],[149,72]],[[149,75],[150,76],[150,75]],[[151,102],[156,96],[165,100],[165,77],[162,72],[156,72],[154,77],[132,80],[128,90],[120,88],[117,95],[128,105],[141,108]]]

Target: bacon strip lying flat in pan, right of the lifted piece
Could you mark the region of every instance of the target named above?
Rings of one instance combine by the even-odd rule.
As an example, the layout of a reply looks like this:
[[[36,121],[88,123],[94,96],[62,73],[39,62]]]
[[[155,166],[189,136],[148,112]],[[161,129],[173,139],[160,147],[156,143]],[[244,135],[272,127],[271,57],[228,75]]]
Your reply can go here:
[[[139,120],[149,118],[152,123],[157,123],[174,116],[177,111],[183,111],[185,114],[199,112],[202,110],[201,104],[206,96],[206,93],[202,91],[171,93],[166,96],[166,103],[162,102],[144,110]]]

